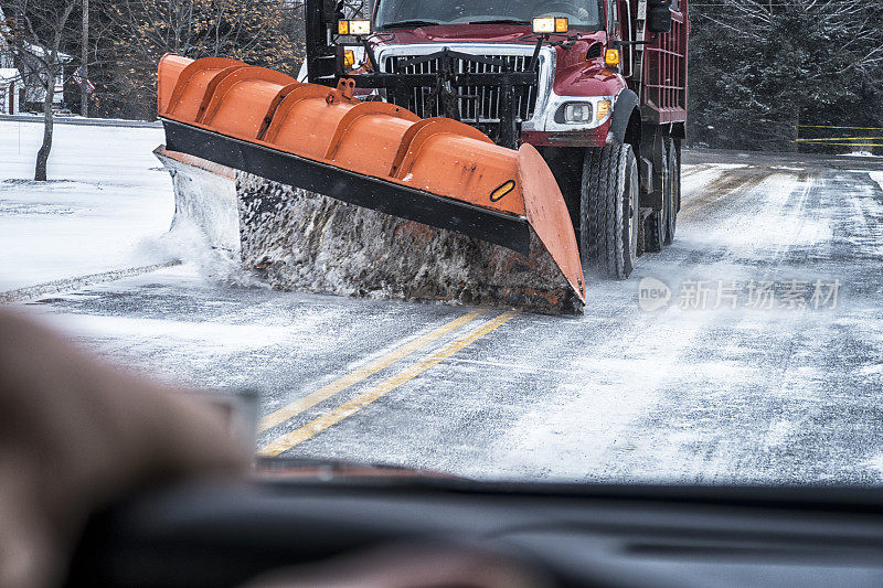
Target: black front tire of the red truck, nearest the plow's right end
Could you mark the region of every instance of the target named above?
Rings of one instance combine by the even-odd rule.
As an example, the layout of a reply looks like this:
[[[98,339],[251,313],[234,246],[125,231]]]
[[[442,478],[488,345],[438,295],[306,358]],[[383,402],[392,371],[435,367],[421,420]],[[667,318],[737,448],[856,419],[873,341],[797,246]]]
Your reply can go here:
[[[604,277],[626,279],[638,255],[638,162],[630,145],[586,150],[579,202],[583,263]]]

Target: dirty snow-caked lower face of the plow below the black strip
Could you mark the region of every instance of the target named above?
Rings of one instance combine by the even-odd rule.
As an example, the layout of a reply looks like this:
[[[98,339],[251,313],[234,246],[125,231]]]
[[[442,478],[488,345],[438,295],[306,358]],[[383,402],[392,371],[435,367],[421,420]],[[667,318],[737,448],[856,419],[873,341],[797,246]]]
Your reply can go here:
[[[274,288],[582,312],[533,232],[521,255],[246,173],[236,185],[242,259]]]

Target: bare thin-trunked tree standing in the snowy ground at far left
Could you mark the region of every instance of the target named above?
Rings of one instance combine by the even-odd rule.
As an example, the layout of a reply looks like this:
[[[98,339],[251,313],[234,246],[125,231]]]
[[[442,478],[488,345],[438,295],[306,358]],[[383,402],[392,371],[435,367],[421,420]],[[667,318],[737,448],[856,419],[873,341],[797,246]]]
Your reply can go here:
[[[25,77],[43,94],[43,145],[36,153],[34,180],[46,180],[52,151],[55,84],[62,75],[66,55],[62,44],[72,34],[71,14],[79,0],[11,0],[4,2],[10,23],[7,42]]]

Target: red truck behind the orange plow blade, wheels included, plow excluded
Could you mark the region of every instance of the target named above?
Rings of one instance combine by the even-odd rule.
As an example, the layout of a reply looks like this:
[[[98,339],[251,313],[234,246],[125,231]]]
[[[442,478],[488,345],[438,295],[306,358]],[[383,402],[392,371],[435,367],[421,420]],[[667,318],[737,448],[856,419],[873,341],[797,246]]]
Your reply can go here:
[[[312,4],[312,8],[310,8]],[[376,0],[307,7],[309,82],[530,143],[582,255],[626,278],[674,239],[687,120],[687,0]]]

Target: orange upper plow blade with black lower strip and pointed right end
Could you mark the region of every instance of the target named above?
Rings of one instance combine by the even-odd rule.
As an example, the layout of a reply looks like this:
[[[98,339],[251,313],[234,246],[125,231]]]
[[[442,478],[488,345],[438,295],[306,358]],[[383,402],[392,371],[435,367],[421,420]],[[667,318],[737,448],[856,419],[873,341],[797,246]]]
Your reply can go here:
[[[530,145],[225,58],[167,55],[166,150],[531,255],[535,238],[579,308],[583,269],[557,183]],[[524,295],[523,285],[519,296]],[[558,295],[552,295],[558,296]]]

